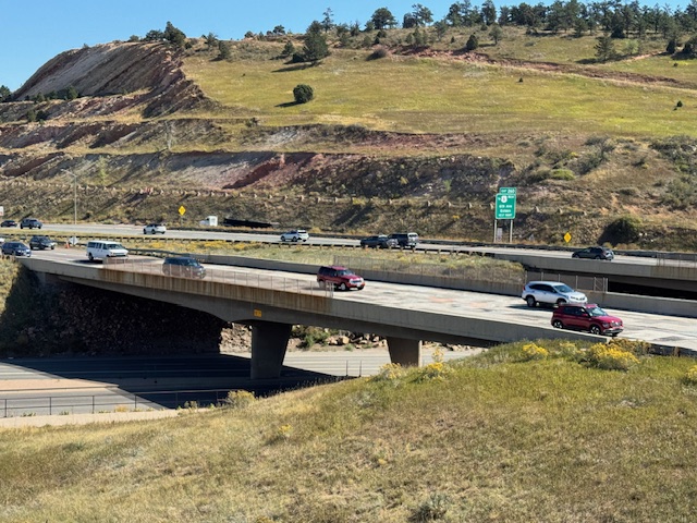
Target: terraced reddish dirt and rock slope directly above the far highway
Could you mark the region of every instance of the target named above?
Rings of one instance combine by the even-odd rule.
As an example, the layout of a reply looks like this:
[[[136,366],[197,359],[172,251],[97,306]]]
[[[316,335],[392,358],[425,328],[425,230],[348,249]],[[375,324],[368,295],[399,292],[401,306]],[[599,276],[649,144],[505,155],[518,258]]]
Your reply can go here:
[[[486,59],[432,54],[424,57]],[[181,64],[164,44],[112,42],[63,52],[40,68],[15,100],[69,87],[81,97],[0,104],[5,216],[71,219],[69,170],[80,179],[81,220],[175,222],[185,205],[188,224],[219,215],[315,231],[409,229],[488,240],[499,186],[518,187],[516,241],[559,243],[571,232],[575,242],[595,243],[610,221],[634,215],[658,224],[640,242],[660,247],[685,239],[684,229],[667,229],[670,222],[695,218],[684,197],[692,193],[680,188],[682,174],[671,165],[689,141],[659,151],[638,138],[246,125],[207,99]],[[554,64],[506,65],[578,74]],[[27,121],[33,111],[39,121]],[[506,142],[516,144],[515,158],[501,155]]]

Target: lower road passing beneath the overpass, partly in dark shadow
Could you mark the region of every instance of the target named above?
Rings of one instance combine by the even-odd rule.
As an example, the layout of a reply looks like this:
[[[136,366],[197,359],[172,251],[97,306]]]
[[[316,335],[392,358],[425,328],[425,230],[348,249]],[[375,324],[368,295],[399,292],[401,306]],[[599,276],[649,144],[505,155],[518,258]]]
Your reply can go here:
[[[477,349],[447,352],[445,361]],[[424,351],[425,364],[432,351]],[[218,403],[230,390],[268,396],[337,379],[371,376],[390,362],[386,349],[289,352],[280,379],[249,379],[249,353],[174,356],[51,357],[0,361],[0,421]],[[2,424],[0,423],[0,426]]]

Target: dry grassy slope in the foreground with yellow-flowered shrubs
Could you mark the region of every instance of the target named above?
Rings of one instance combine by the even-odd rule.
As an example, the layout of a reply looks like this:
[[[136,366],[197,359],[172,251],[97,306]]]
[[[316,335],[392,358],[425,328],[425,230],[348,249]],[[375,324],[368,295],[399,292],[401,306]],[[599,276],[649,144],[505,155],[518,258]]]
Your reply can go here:
[[[4,430],[0,519],[690,521],[694,362],[591,354],[514,344],[174,419]]]

